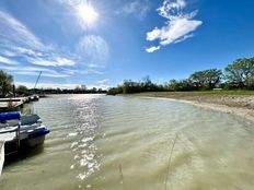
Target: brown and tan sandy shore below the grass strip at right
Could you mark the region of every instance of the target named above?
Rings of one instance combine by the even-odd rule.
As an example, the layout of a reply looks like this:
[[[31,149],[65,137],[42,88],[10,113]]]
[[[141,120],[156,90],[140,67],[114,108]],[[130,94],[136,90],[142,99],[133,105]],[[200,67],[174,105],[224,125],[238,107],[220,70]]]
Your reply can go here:
[[[236,115],[254,121],[254,96],[253,95],[193,95],[193,94],[161,94],[141,93],[137,96],[149,98],[170,98],[195,106],[209,108],[227,114]]]

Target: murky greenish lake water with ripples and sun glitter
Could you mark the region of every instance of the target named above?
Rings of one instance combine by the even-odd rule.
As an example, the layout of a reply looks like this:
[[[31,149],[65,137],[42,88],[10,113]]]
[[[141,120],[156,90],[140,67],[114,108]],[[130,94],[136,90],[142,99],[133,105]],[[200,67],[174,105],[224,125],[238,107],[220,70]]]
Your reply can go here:
[[[34,111],[51,133],[43,150],[4,167],[1,190],[254,188],[254,124],[241,118],[101,95],[44,98]]]

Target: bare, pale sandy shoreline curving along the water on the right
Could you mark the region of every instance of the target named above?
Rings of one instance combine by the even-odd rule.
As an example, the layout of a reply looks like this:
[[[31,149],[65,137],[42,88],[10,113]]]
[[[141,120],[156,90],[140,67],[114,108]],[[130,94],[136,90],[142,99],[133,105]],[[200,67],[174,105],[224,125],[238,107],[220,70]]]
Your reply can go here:
[[[234,102],[236,102],[238,104],[232,104],[229,100],[227,102],[222,99],[220,96],[213,96],[212,97],[213,99],[210,97],[205,97],[205,96],[198,96],[198,97],[192,96],[192,98],[189,98],[190,95],[186,97],[181,97],[181,96],[180,97],[168,97],[163,95],[157,96],[155,94],[146,94],[146,93],[135,94],[135,96],[142,97],[142,98],[153,98],[153,99],[155,98],[155,99],[181,102],[181,103],[185,103],[185,104],[189,104],[189,105],[194,105],[194,106],[198,106],[198,107],[203,107],[207,109],[231,114],[231,115],[239,116],[243,119],[247,119],[254,122],[254,109],[252,108],[253,105],[245,106],[238,102],[238,99],[246,98],[245,96],[234,95],[234,96],[228,97],[229,99],[234,99]],[[247,96],[247,98],[250,97]],[[215,99],[217,100],[215,102]],[[251,100],[254,102],[254,96],[251,97]]]

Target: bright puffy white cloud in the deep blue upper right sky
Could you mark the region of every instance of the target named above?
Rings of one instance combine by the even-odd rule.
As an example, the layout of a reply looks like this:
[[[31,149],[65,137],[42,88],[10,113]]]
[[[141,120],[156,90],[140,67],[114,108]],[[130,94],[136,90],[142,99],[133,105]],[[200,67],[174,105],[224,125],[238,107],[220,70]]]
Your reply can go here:
[[[185,0],[164,0],[162,7],[158,9],[158,13],[168,21],[161,28],[154,27],[147,33],[147,40],[159,40],[158,46],[147,48],[148,52],[153,52],[162,46],[181,43],[189,37],[203,24],[201,21],[193,20],[197,11],[185,13]]]

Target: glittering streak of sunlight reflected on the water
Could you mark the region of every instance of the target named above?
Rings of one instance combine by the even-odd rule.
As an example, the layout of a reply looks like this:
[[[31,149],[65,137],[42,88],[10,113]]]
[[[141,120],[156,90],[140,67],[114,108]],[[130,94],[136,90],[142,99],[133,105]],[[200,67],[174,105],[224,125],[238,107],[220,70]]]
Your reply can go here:
[[[96,170],[100,169],[99,158],[96,154],[97,147],[94,144],[94,139],[97,134],[97,116],[96,116],[96,100],[97,96],[91,96],[83,99],[83,96],[72,97],[74,107],[76,133],[68,135],[76,135],[76,141],[71,144],[71,150],[74,152],[73,163],[70,169],[79,168],[81,170],[77,178],[84,180]]]

